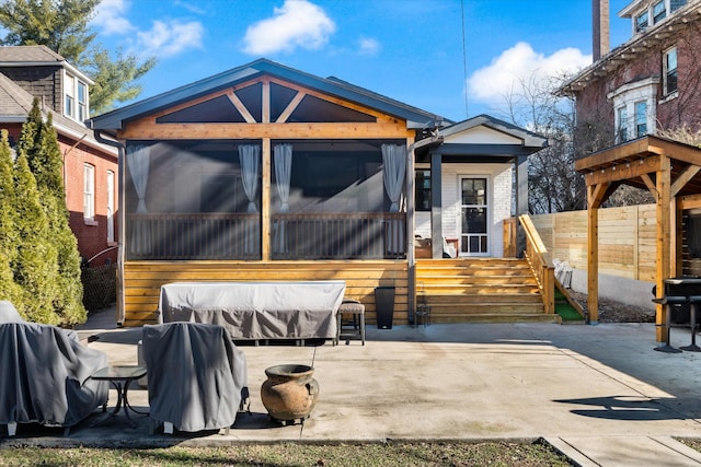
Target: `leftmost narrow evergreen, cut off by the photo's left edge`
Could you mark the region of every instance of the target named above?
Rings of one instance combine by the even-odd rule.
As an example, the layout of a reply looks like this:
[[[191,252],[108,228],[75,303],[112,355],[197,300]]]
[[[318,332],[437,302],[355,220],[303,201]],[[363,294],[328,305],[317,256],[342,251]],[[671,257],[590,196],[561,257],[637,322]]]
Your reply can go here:
[[[15,307],[21,307],[22,289],[14,282],[11,267],[18,255],[12,171],[8,130],[0,130],[0,300],[9,300]]]

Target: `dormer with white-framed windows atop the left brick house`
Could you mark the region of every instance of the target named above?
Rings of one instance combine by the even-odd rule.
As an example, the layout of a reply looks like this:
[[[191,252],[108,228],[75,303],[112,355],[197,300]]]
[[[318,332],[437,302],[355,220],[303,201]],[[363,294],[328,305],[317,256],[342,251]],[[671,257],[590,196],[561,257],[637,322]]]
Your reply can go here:
[[[45,108],[83,124],[93,81],[46,46],[0,47],[0,73],[38,97]]]

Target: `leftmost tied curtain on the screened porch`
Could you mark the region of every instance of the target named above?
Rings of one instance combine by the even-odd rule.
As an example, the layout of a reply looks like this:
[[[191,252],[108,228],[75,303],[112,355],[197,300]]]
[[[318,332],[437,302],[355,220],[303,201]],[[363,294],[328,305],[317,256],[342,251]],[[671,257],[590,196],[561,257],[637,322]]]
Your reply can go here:
[[[146,213],[146,189],[149,183],[150,148],[145,144],[127,147],[127,165],[131,182],[139,201],[136,206],[137,213]],[[148,221],[136,220],[133,225],[133,235],[129,242],[129,250],[137,255],[151,253],[151,229]]]

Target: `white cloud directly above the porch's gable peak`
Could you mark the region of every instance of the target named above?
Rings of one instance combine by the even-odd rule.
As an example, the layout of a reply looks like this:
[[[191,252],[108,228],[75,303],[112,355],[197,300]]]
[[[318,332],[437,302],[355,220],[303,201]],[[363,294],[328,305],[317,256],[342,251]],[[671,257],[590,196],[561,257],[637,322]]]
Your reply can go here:
[[[285,0],[272,17],[249,26],[243,51],[265,55],[297,47],[319,49],[335,31],[335,23],[320,7],[307,0]]]

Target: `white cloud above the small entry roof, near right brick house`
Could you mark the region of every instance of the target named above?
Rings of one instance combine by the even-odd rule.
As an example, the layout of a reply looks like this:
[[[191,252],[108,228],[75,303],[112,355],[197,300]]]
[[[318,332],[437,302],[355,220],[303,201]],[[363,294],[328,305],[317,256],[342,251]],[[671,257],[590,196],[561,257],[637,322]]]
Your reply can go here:
[[[563,48],[550,56],[533,50],[530,44],[518,43],[492,60],[490,66],[468,79],[468,95],[483,103],[503,102],[519,80],[548,79],[563,72],[574,72],[591,63],[590,55],[576,48]]]

